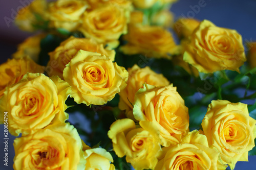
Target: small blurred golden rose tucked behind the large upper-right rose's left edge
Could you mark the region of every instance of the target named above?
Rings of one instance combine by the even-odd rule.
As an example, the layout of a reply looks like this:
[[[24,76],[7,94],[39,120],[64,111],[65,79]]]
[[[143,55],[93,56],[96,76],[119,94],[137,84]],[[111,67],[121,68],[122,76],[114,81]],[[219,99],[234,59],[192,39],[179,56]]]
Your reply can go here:
[[[187,38],[200,25],[200,21],[194,18],[179,18],[174,23],[174,31],[179,38]]]

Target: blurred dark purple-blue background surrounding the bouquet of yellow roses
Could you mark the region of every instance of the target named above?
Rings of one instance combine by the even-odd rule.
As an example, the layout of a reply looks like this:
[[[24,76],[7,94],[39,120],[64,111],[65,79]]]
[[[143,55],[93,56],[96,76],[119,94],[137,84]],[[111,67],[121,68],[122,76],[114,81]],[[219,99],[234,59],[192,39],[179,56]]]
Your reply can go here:
[[[31,33],[19,30],[13,24],[17,9],[28,5],[32,0],[0,1],[0,63],[5,62],[16,51],[18,43],[24,41]],[[204,3],[203,3],[204,2]],[[203,3],[204,7],[198,4]],[[199,8],[198,8],[199,7]],[[256,1],[255,0],[180,0],[171,11],[177,19],[179,16],[193,17],[199,20],[208,19],[219,27],[237,30],[244,43],[256,41]],[[245,48],[246,51],[246,48]],[[1,81],[1,80],[0,80]],[[77,117],[76,117],[77,116]],[[79,115],[73,114],[70,122],[79,121]],[[81,121],[81,120],[80,120]],[[8,167],[4,165],[4,126],[0,125],[0,169],[13,169],[13,140],[8,135]],[[238,162],[235,170],[256,169],[256,156],[249,156],[249,162]]]

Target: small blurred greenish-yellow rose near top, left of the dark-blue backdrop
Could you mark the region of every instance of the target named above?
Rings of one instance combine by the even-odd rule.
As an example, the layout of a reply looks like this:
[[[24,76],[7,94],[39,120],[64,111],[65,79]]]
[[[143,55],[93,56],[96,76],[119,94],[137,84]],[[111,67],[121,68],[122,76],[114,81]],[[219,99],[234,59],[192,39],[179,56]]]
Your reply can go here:
[[[168,10],[157,12],[152,18],[153,25],[171,27],[174,23],[174,14]]]

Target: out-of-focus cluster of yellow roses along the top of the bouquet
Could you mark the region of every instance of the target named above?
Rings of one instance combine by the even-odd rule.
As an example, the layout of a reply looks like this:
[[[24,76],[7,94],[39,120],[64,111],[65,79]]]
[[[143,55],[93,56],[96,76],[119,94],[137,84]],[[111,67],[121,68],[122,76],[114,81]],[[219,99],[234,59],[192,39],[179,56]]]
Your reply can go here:
[[[174,2],[59,0],[47,3],[45,0],[35,0],[18,11],[15,23],[25,31],[42,29],[56,33],[58,30],[71,35],[78,32],[79,37],[92,38],[108,46],[109,50],[116,48],[120,36],[126,34],[123,39],[129,43],[120,48],[124,54],[146,53],[148,57],[171,58],[170,55],[177,52],[173,36],[167,31],[173,24],[174,17],[169,8]],[[37,35],[30,42],[41,38],[44,38],[44,34]],[[20,50],[24,47],[21,46]],[[38,50],[30,52],[35,56]],[[20,55],[17,53],[14,57]]]

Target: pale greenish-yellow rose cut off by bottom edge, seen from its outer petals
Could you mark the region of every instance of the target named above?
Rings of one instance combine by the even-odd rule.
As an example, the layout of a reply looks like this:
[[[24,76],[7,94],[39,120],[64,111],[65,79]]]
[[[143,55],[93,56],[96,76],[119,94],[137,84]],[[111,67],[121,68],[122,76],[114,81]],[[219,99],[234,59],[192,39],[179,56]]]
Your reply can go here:
[[[84,170],[115,170],[113,158],[109,152],[103,148],[87,149],[84,151],[86,158],[86,168]]]

